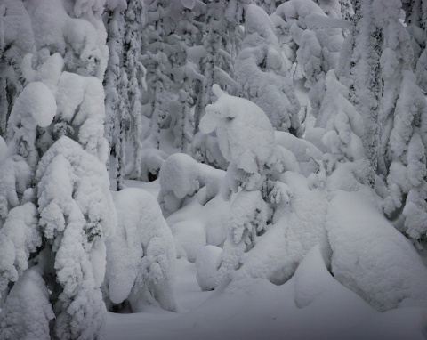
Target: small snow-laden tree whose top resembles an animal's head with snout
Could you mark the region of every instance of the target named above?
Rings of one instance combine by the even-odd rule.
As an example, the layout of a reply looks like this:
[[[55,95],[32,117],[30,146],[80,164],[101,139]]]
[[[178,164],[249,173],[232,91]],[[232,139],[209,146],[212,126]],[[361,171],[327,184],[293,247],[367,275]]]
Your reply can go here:
[[[216,131],[227,169],[227,189],[238,193],[231,204],[230,233],[225,241],[220,276],[228,277],[242,264],[244,253],[257,243],[273,218],[273,206],[288,204],[292,192],[278,175],[292,166],[286,150],[275,142],[273,126],[265,113],[253,102],[223,93],[206,108],[200,122],[201,131]]]

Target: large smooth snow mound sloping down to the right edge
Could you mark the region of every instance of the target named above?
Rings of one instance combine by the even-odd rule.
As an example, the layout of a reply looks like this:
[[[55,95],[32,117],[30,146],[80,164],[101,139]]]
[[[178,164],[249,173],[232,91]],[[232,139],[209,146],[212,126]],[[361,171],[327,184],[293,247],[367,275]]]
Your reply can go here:
[[[372,194],[338,191],[327,219],[335,279],[379,311],[396,308],[405,299],[427,299],[425,266],[383,217]]]

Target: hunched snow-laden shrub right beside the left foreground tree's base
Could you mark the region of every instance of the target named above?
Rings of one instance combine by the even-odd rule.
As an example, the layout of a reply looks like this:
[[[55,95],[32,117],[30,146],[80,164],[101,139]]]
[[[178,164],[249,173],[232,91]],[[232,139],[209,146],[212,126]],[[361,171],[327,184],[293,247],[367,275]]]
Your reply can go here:
[[[114,195],[118,225],[107,243],[105,287],[109,300],[126,299],[133,312],[146,304],[176,308],[173,293],[175,247],[156,199],[141,189]]]

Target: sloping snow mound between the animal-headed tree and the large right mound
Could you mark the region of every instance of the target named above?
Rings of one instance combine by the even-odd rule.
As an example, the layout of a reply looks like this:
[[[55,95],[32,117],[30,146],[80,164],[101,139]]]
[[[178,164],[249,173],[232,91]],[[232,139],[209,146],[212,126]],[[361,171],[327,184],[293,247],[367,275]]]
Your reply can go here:
[[[267,225],[262,237],[256,238],[251,251],[228,254],[228,245],[224,245],[223,261],[241,264],[241,268],[232,275],[227,288],[229,291],[241,290],[260,278],[270,279],[275,285],[283,285],[317,244],[326,258],[329,255],[325,229],[325,192],[310,190],[302,174],[288,172],[283,175],[283,181],[293,192],[293,198],[289,204],[278,206],[273,223]],[[229,258],[234,256],[238,256],[238,259]]]

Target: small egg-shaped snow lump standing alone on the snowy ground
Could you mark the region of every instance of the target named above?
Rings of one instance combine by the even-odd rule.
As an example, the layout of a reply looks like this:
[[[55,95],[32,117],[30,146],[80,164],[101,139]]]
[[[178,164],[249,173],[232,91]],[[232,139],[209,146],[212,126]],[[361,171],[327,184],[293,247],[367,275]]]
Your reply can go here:
[[[202,290],[214,290],[218,282],[219,259],[222,248],[205,246],[197,252],[197,283]]]

